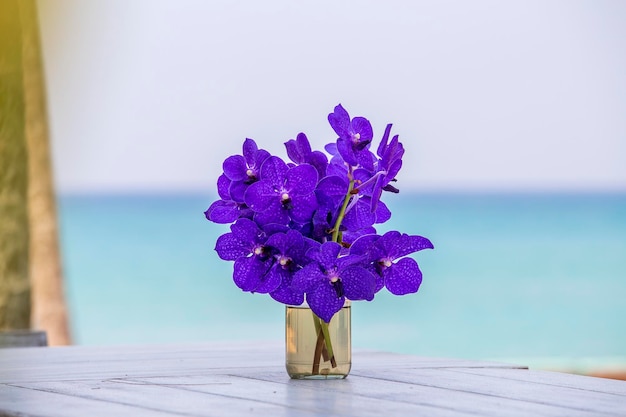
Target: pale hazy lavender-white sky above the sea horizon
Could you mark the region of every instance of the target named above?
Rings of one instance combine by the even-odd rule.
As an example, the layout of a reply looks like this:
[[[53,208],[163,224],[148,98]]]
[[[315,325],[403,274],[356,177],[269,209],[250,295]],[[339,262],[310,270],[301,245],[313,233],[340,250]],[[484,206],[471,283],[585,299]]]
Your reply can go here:
[[[62,193],[214,192],[341,103],[398,187],[625,191],[624,1],[40,0]]]

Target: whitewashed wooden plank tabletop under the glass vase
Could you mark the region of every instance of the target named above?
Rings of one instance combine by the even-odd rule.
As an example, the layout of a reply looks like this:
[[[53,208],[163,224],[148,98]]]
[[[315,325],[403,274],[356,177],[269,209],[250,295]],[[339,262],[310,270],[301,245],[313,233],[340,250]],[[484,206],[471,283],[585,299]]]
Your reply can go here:
[[[355,351],[291,380],[281,343],[0,349],[0,416],[626,416],[626,382]]]

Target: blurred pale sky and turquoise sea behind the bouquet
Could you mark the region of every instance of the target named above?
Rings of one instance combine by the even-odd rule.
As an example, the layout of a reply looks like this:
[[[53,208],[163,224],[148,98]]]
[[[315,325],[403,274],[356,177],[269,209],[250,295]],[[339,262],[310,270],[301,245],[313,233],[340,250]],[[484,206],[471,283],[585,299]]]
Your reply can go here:
[[[74,343],[281,339],[203,211],[246,137],[321,149],[342,103],[406,149],[379,231],[435,245],[356,348],[626,369],[626,3],[37,5]]]

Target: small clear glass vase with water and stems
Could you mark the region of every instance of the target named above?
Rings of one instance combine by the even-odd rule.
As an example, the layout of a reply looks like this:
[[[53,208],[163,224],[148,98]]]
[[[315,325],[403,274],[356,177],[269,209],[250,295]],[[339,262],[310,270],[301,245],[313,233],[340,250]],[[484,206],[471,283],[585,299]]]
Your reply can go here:
[[[330,323],[308,305],[287,306],[285,312],[287,373],[293,379],[342,379],[352,362],[350,301]]]

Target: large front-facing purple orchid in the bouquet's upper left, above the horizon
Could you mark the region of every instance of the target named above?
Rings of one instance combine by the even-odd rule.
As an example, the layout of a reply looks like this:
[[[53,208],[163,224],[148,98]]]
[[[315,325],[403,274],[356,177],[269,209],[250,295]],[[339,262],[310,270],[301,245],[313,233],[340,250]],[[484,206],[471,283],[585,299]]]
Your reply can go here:
[[[271,156],[261,166],[260,180],[246,190],[244,200],[260,224],[288,224],[311,220],[317,208],[315,186],[317,171],[312,165],[288,167],[277,156]]]

